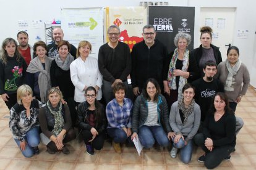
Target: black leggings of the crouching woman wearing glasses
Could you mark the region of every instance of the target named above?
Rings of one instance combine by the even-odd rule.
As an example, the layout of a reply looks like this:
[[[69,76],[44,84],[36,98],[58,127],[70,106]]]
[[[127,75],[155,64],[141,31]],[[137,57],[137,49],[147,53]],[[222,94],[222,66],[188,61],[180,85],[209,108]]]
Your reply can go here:
[[[88,144],[88,141],[90,139],[92,139],[93,135],[89,130],[83,129],[82,136],[83,136],[83,141],[85,142],[85,144]],[[99,133],[95,137],[95,139],[93,139],[92,147],[95,148],[96,150],[101,150],[101,148],[103,148],[103,144],[104,144],[104,136],[105,136],[105,134],[103,132]]]

